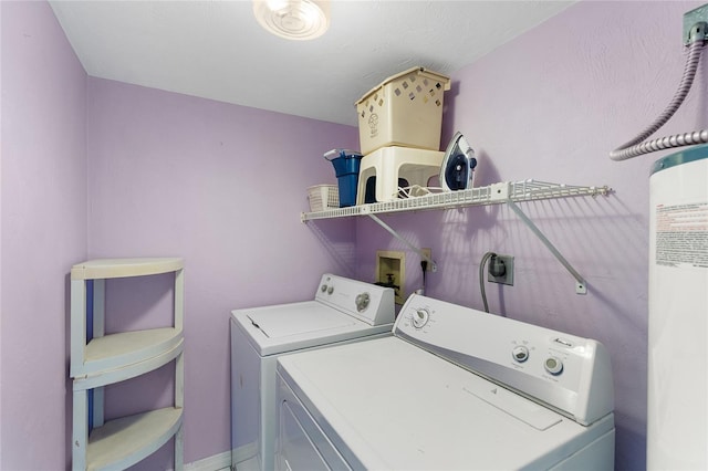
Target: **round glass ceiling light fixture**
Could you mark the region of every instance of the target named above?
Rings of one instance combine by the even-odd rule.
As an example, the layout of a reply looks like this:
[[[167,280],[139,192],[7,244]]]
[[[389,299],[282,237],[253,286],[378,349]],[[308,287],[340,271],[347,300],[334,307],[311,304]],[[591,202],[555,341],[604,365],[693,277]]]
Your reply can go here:
[[[311,40],[330,27],[329,0],[253,0],[253,14],[267,31],[289,40]]]

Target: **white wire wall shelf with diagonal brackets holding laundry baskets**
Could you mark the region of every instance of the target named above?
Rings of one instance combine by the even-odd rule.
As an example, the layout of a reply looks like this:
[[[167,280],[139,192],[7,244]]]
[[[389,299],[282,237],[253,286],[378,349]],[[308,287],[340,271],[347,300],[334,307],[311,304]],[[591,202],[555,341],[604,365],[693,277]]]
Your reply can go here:
[[[611,191],[612,189],[607,186],[573,186],[533,179],[523,181],[503,181],[468,190],[434,192],[420,197],[395,199],[393,201],[327,209],[317,212],[303,212],[301,213],[300,219],[302,222],[308,222],[317,219],[367,216],[391,232],[394,237],[406,243],[410,249],[416,251],[420,258],[427,260],[428,263],[430,263],[433,271],[436,271],[437,265],[434,260],[429,259],[425,252],[413,245],[392,227],[382,221],[377,214],[465,208],[483,205],[508,205],[551,251],[553,257],[555,257],[575,279],[575,292],[577,294],[585,294],[587,293],[587,285],[583,276],[573,269],[553,243],[541,232],[531,219],[521,211],[521,208],[517,206],[517,202],[571,197],[597,197],[600,195],[607,196]]]

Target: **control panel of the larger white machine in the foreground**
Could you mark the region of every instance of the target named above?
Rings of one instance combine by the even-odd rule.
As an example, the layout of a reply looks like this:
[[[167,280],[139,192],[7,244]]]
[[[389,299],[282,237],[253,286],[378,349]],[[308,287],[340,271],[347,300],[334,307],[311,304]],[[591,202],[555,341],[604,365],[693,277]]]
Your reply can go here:
[[[412,295],[394,335],[589,425],[614,409],[598,342]]]

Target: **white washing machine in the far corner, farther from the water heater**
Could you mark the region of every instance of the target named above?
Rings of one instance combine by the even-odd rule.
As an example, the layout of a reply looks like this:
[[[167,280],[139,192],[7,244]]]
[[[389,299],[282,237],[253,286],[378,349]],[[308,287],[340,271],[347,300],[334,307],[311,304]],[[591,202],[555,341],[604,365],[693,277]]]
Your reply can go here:
[[[394,290],[322,275],[314,300],[231,312],[231,465],[272,470],[282,354],[392,335]]]

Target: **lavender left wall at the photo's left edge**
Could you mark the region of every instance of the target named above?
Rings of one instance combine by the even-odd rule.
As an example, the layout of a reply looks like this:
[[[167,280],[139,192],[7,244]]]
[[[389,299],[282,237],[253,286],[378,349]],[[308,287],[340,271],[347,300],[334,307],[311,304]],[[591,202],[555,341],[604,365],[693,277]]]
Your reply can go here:
[[[49,4],[1,2],[0,469],[69,465],[69,270],[86,255],[86,74]]]

